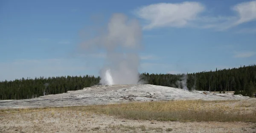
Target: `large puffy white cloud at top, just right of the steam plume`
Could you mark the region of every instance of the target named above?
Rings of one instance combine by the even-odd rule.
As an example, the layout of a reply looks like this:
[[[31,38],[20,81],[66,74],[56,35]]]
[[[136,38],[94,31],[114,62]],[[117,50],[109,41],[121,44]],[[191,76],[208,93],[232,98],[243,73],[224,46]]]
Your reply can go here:
[[[136,14],[148,22],[144,29],[152,29],[165,26],[186,26],[203,10],[204,6],[198,2],[157,3],[141,7]]]

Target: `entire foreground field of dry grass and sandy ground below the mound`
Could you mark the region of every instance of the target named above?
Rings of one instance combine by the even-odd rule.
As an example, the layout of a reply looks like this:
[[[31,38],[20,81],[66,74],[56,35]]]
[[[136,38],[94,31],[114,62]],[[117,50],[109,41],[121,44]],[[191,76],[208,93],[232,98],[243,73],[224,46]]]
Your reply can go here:
[[[0,110],[1,133],[256,133],[256,98]]]

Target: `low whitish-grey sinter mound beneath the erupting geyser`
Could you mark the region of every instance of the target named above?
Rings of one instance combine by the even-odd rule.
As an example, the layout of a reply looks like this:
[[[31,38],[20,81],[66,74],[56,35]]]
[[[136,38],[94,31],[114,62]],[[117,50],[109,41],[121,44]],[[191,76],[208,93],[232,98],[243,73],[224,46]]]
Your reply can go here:
[[[68,91],[56,95],[45,95],[39,98],[23,100],[0,100],[1,108],[58,107],[92,104],[111,104],[130,101],[161,101],[161,100],[235,100],[248,99],[232,93],[203,93],[204,91],[187,91],[172,87],[150,84],[106,85],[87,87],[83,90]]]

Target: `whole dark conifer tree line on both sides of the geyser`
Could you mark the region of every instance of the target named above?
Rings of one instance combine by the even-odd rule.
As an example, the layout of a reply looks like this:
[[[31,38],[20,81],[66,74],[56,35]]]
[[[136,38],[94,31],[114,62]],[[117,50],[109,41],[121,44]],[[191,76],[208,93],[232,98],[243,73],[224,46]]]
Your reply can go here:
[[[100,77],[61,76],[49,78],[22,78],[0,82],[0,99],[28,99],[42,95],[66,93],[99,84]],[[187,74],[141,73],[140,81],[167,87],[203,91],[235,91],[235,94],[253,96],[256,92],[256,65],[233,69]]]

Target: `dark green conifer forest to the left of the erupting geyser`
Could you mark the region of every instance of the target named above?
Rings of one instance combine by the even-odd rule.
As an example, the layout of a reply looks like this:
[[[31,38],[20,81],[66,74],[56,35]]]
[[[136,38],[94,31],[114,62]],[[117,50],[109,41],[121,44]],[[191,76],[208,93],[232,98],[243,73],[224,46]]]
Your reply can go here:
[[[22,78],[15,81],[0,82],[0,99],[28,99],[42,95],[66,93],[69,90],[81,90],[99,83],[100,78],[93,75],[61,76],[49,78]]]

